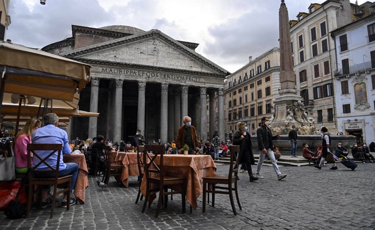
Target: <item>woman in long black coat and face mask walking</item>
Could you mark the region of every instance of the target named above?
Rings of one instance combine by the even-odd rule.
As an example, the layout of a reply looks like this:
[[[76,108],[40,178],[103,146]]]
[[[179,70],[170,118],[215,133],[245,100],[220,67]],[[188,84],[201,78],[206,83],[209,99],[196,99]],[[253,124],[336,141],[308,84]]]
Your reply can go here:
[[[252,154],[252,145],[250,140],[250,133],[248,126],[245,122],[237,123],[237,132],[234,133],[232,143],[233,145],[240,146],[239,163],[245,163],[248,168],[250,181],[257,180],[258,178],[252,176],[251,164],[254,164],[254,156]]]

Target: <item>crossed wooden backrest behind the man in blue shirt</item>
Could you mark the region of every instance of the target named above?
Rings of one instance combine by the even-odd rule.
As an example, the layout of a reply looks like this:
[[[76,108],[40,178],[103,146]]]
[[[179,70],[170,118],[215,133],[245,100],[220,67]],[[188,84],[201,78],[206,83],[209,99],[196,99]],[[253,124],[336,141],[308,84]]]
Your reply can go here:
[[[27,168],[29,172],[31,172],[29,175],[33,177],[35,173],[39,173],[39,174],[54,173],[55,179],[57,181],[57,178],[59,175],[61,150],[62,150],[62,144],[27,144]],[[56,167],[53,167],[47,162],[47,160],[51,156],[55,155],[56,152],[57,152]],[[35,164],[34,167],[31,165],[32,157],[34,159],[34,162],[36,158],[40,160],[40,162]],[[37,169],[42,164],[46,165],[48,169],[47,170]]]

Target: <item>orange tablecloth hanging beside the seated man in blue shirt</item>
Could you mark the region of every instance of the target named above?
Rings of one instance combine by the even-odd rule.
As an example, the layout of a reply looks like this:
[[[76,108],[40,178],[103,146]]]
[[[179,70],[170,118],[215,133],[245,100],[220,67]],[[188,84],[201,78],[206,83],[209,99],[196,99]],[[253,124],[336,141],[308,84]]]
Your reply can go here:
[[[79,204],[85,203],[85,191],[89,186],[87,174],[86,159],[84,154],[64,154],[65,163],[76,163],[78,165],[78,176],[75,182],[74,195],[78,199]]]

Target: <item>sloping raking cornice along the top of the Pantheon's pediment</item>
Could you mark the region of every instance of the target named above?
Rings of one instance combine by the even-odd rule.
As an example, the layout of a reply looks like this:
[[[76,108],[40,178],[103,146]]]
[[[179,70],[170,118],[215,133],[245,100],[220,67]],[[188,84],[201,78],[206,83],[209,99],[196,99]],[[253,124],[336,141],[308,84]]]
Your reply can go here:
[[[64,57],[67,57],[67,58],[74,58],[74,57],[79,57],[81,55],[85,55],[85,54],[88,54],[88,53],[91,53],[91,52],[97,52],[97,51],[101,51],[101,50],[105,50],[105,49],[110,49],[110,48],[113,48],[113,47],[116,47],[116,46],[121,46],[121,45],[145,40],[145,39],[152,38],[152,37],[157,37],[158,39],[164,41],[165,43],[173,46],[175,49],[185,53],[186,55],[188,55],[191,58],[200,62],[201,64],[203,64],[203,65],[207,66],[208,68],[214,70],[215,72],[218,73],[218,75],[227,76],[227,75],[230,74],[225,69],[223,69],[220,66],[216,65],[215,63],[209,61],[208,59],[202,57],[199,53],[189,49],[188,47],[186,47],[183,44],[175,41],[173,38],[169,37],[168,35],[162,33],[161,31],[159,31],[157,29],[152,29],[150,31],[134,34],[134,35],[127,36],[127,37],[122,37],[122,38],[115,39],[115,40],[112,40],[112,41],[103,42],[103,43],[100,43],[100,44],[76,49],[76,50],[73,50],[73,51],[63,52],[60,55],[64,56]]]

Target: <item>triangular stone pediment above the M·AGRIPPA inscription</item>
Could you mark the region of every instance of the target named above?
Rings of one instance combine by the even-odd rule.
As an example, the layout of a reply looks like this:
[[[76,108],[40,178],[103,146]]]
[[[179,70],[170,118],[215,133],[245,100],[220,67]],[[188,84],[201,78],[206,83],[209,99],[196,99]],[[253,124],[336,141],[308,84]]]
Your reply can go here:
[[[134,64],[180,71],[227,76],[229,73],[168,35],[153,29],[147,32],[63,52],[60,55],[80,60]]]

